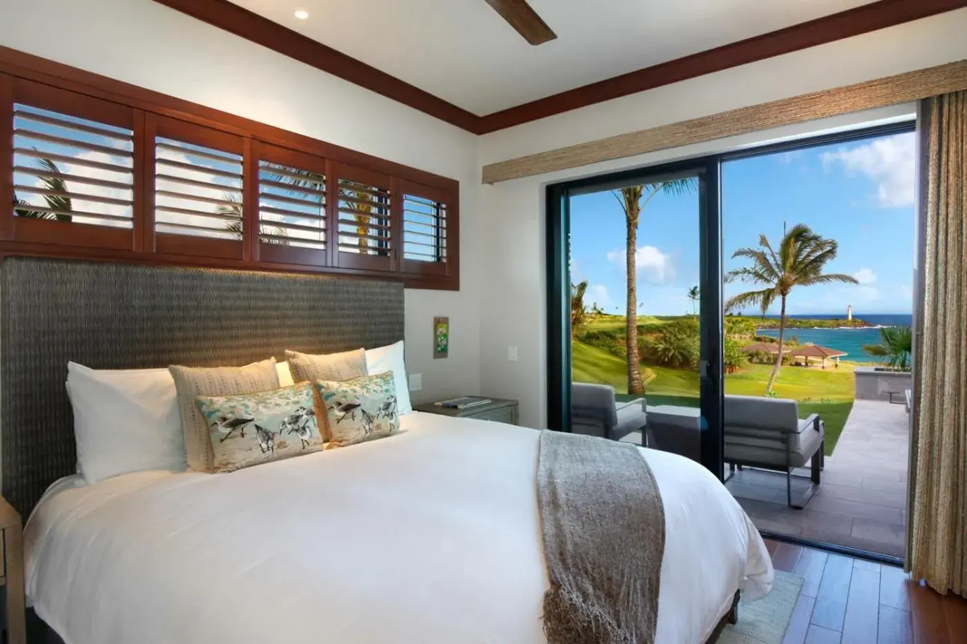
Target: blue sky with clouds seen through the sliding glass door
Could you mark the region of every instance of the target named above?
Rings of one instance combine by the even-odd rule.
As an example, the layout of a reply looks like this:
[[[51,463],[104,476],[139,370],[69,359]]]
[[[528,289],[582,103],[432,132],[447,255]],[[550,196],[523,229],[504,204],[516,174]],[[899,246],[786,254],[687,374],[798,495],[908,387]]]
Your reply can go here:
[[[789,298],[791,314],[845,313],[847,305],[856,314],[910,312],[915,147],[915,135],[905,133],[725,163],[725,270],[744,265],[732,252],[756,246],[760,233],[775,245],[783,222],[806,223],[839,243],[827,272],[861,283],[799,287]],[[625,235],[625,214],[613,194],[571,199],[571,280],[588,279],[589,306],[624,311]],[[691,310],[687,291],[698,283],[699,268],[697,192],[649,201],[635,258],[640,313]],[[750,288],[726,284],[725,296]]]

